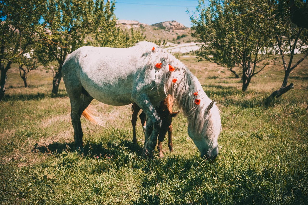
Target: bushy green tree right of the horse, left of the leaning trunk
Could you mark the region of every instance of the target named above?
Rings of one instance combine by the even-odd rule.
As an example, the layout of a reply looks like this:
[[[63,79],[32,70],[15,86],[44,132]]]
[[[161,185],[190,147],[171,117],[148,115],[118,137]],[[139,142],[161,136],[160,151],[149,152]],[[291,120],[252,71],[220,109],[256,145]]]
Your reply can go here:
[[[209,7],[199,0],[190,16],[193,37],[202,42],[196,51],[201,59],[215,62],[232,71],[242,70],[242,90],[246,91],[251,78],[274,60],[276,50],[271,38],[272,28],[259,10],[266,10],[261,0],[210,0]]]

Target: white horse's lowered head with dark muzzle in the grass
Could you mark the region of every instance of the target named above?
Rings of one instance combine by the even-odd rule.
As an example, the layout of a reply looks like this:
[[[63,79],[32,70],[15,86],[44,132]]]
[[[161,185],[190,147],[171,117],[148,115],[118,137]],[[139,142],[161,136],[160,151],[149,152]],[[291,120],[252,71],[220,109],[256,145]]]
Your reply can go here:
[[[202,109],[201,112],[204,112],[204,123],[201,128],[194,126],[196,125],[194,122],[188,123],[188,135],[199,149],[201,157],[212,160],[218,155],[217,139],[221,131],[220,114],[214,103],[215,100],[210,102],[205,109]]]

